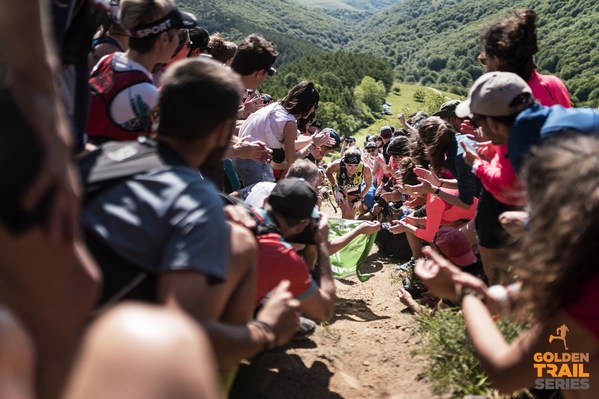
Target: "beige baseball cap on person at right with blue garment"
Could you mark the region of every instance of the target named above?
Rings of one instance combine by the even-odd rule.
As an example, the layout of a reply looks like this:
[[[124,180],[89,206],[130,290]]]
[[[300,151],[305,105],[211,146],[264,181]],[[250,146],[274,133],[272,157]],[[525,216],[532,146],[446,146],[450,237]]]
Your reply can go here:
[[[468,99],[455,109],[458,118],[470,114],[509,116],[518,112],[512,102],[520,95],[532,92],[520,76],[512,72],[489,72],[476,79],[468,91]],[[532,101],[531,101],[532,104]]]

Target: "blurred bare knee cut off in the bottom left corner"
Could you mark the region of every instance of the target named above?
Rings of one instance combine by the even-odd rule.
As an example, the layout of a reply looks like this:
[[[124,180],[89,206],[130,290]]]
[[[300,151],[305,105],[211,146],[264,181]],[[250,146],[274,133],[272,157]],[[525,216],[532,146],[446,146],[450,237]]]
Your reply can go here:
[[[0,307],[0,398],[33,399],[34,348],[25,329]]]

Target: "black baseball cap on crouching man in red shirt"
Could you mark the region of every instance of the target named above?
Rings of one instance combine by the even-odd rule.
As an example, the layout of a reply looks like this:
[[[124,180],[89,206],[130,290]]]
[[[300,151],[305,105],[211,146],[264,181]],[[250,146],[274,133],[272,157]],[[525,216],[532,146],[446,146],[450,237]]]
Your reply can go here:
[[[318,218],[317,201],[318,197],[312,186],[296,177],[280,180],[268,197],[273,210],[293,219]]]

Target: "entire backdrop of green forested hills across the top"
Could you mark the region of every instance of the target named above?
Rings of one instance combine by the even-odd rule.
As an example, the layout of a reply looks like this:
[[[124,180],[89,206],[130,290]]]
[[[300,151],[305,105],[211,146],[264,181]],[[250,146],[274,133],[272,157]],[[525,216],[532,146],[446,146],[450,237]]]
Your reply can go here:
[[[481,73],[481,29],[516,7],[539,14],[537,64],[578,106],[599,107],[597,0],[181,0],[210,32],[277,43],[277,67],[328,51],[386,59],[395,78],[465,94]],[[378,12],[375,12],[377,11]],[[360,56],[361,57],[361,56]],[[322,65],[326,70],[327,66]],[[310,78],[303,74],[303,76]]]

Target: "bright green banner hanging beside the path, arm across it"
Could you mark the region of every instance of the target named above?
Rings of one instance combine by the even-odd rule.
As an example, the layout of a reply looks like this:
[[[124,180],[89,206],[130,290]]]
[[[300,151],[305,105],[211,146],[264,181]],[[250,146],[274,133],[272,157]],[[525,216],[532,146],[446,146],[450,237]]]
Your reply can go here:
[[[362,222],[363,220],[329,218],[329,241],[341,237]],[[355,273],[360,281],[368,280],[371,275],[360,273],[360,265],[370,254],[375,239],[376,234],[360,234],[341,251],[331,255],[331,268],[335,278],[344,278]]]

